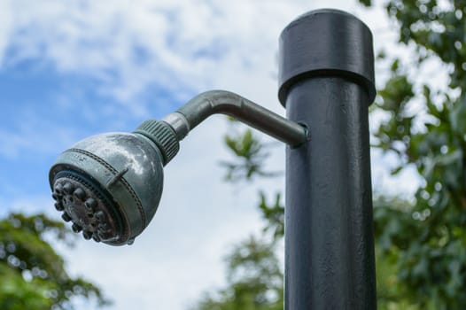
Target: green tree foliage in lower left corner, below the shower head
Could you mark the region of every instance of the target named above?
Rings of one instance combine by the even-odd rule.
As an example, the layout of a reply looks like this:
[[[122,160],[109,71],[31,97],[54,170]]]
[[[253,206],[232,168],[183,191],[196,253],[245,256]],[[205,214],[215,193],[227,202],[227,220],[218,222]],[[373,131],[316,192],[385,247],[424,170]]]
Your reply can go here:
[[[73,309],[73,298],[109,304],[94,284],[66,273],[48,236],[73,245],[70,230],[43,214],[12,213],[0,220],[0,309]]]

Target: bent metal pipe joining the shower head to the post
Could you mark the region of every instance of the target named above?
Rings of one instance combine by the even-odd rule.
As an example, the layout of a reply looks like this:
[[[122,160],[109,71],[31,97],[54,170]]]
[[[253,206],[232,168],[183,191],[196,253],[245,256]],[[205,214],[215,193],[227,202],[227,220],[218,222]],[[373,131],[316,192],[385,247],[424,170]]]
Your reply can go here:
[[[291,147],[297,147],[309,139],[304,125],[286,120],[275,112],[226,90],[201,93],[162,120],[170,124],[178,139],[182,140],[192,128],[216,113],[229,115]]]

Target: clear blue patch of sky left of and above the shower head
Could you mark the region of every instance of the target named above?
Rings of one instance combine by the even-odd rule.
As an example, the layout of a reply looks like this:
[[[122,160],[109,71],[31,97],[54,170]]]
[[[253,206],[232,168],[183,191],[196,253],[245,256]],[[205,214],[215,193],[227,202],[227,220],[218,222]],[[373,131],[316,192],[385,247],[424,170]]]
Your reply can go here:
[[[5,59],[10,53],[5,54]],[[157,85],[135,96],[149,109],[151,97],[163,98],[144,115],[99,91],[86,74],[58,73],[41,59],[24,59],[0,73],[0,196],[5,201],[43,196],[47,174],[59,151],[86,136],[106,131],[131,131],[144,118],[159,118],[181,103]],[[6,205],[8,207],[8,205]]]

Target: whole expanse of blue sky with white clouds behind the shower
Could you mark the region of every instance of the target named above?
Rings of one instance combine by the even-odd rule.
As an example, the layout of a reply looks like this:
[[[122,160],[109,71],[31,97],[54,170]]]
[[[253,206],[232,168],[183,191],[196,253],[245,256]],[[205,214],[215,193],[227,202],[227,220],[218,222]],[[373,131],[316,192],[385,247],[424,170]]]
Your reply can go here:
[[[0,1],[0,215],[57,216],[48,171],[59,152],[86,136],[131,131],[198,92],[236,91],[283,114],[278,35],[322,6],[387,27],[379,9],[366,12],[352,1]],[[82,240],[71,252],[58,245],[73,275],[113,298],[110,309],[185,309],[223,284],[222,256],[231,245],[260,231],[257,190],[283,190],[283,179],[221,182],[227,130],[215,117],[183,141],[166,168],[159,211],[134,245]],[[284,147],[269,165],[283,163]],[[383,187],[384,169],[375,167]]]

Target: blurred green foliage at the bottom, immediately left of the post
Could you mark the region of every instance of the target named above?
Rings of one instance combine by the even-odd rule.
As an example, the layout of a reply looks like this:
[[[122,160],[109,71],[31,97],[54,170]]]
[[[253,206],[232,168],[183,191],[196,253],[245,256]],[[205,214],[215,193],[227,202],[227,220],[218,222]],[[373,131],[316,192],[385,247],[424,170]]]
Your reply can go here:
[[[275,246],[251,236],[226,257],[227,288],[206,294],[196,310],[281,310],[283,272]]]

